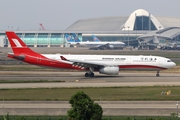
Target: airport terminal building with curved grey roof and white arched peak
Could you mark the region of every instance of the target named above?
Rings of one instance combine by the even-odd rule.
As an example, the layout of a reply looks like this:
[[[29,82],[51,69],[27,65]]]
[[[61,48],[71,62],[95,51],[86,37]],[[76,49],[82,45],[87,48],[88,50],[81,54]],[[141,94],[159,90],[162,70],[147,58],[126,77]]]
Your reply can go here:
[[[180,18],[160,17],[138,9],[130,16],[111,16],[81,19],[63,31],[15,31],[28,46],[62,47],[65,34],[76,33],[81,41],[122,41],[127,46],[157,46],[180,41]],[[0,31],[0,47],[9,46],[5,31]]]

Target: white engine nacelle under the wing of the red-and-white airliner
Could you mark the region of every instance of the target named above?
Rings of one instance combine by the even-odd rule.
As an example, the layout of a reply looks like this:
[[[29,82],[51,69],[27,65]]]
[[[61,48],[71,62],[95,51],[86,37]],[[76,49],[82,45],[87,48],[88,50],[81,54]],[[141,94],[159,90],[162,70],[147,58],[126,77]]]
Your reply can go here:
[[[99,73],[101,74],[107,74],[107,75],[118,75],[119,74],[119,67],[111,67],[111,66],[107,66],[107,67],[103,67],[99,70]]]

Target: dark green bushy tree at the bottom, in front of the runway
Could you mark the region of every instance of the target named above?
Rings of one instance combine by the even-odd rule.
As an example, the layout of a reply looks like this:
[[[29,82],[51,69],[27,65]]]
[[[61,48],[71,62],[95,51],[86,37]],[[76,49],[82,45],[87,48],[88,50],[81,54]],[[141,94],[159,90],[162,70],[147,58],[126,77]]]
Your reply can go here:
[[[72,120],[101,120],[102,108],[84,92],[77,92],[69,100],[72,108],[68,116]],[[98,119],[97,119],[98,118]]]

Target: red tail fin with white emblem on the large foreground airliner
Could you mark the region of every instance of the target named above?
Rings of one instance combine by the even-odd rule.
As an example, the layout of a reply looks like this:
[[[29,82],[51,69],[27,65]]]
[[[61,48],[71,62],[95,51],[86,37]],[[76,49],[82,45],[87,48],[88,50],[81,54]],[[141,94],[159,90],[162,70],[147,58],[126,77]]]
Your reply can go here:
[[[31,50],[13,31],[6,31],[6,35],[11,44],[14,54],[30,54],[34,55],[36,52]]]

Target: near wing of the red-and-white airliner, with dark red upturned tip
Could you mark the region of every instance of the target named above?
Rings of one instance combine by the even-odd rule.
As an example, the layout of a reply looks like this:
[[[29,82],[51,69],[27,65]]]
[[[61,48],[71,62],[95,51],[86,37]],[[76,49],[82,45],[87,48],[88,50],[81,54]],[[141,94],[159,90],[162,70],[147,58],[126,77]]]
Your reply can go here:
[[[87,67],[98,67],[98,66],[108,66],[106,64],[97,63],[97,62],[88,62],[88,61],[84,61],[84,60],[68,60],[64,56],[60,56],[60,57],[64,61],[73,62],[73,65],[84,67],[84,68],[87,68]]]

